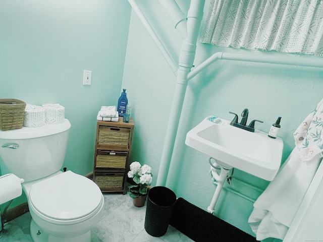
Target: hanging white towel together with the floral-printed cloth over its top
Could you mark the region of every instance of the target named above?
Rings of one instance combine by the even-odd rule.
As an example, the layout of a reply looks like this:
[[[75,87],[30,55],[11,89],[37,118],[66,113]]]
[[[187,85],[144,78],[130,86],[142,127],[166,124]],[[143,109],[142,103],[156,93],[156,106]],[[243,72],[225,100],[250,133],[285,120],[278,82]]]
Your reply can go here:
[[[253,204],[248,223],[257,240],[284,239],[321,161],[323,99],[294,133],[296,147]]]

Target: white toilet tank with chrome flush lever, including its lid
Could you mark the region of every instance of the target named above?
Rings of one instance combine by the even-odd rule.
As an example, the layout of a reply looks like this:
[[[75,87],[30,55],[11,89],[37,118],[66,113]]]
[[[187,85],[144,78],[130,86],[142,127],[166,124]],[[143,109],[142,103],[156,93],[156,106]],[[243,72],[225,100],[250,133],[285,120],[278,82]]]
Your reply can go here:
[[[14,173],[31,181],[59,171],[70,127],[69,120],[65,119],[61,124],[0,131],[1,173]]]

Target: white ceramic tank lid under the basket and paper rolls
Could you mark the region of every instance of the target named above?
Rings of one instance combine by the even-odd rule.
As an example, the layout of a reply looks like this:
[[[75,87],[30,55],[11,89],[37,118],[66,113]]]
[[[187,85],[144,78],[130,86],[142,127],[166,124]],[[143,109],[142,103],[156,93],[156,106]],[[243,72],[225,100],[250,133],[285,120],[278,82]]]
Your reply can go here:
[[[0,139],[5,140],[21,140],[21,139],[32,139],[45,137],[49,135],[55,135],[67,131],[71,128],[71,123],[68,119],[64,119],[64,122],[61,124],[45,124],[41,127],[31,128],[31,127],[22,127],[21,129],[15,130],[0,130]]]

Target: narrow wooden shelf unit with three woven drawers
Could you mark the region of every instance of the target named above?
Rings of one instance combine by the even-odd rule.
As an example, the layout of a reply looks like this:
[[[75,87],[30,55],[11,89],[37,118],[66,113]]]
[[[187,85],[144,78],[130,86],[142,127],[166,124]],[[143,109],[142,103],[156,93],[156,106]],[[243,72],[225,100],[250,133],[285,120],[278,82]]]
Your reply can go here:
[[[97,121],[93,181],[102,192],[127,193],[127,173],[134,131],[129,123]]]

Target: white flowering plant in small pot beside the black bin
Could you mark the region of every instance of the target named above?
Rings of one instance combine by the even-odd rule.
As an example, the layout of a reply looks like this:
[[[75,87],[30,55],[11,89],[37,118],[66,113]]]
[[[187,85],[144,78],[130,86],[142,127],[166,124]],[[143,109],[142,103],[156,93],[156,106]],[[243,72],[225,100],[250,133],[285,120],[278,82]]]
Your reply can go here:
[[[151,167],[146,164],[141,166],[138,161],[132,162],[128,177],[132,178],[135,183],[135,185],[129,186],[128,194],[133,198],[133,204],[136,207],[142,207],[145,204],[152,181]]]

